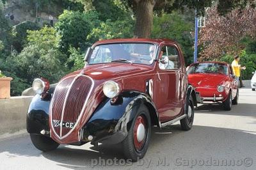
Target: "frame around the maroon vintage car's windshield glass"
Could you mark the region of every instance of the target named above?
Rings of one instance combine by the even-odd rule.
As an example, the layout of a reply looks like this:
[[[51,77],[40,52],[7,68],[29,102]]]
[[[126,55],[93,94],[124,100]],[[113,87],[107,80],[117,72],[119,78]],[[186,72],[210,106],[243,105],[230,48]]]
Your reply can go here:
[[[145,44],[145,45],[154,45],[154,54],[153,54],[153,57],[152,57],[152,63],[139,63],[139,62],[133,62],[133,61],[130,61],[129,59],[126,59],[126,58],[118,58],[118,59],[111,59],[111,61],[109,62],[99,62],[99,63],[90,63],[91,61],[91,57],[92,57],[92,54],[93,54],[93,50],[95,50],[95,48],[99,47],[99,46],[108,46],[108,45],[116,45],[116,44],[131,44],[131,45],[136,45],[136,44]],[[113,42],[113,43],[99,43],[95,46],[92,47],[92,50],[90,50],[90,53],[88,54],[88,61],[86,63],[86,65],[100,65],[100,64],[109,64],[109,63],[130,63],[130,64],[138,64],[138,65],[153,65],[154,64],[154,61],[156,61],[156,58],[157,58],[157,55],[158,55],[158,49],[159,47],[157,46],[156,43],[154,42]],[[131,55],[131,54],[129,54]],[[131,58],[131,56],[129,56]]]

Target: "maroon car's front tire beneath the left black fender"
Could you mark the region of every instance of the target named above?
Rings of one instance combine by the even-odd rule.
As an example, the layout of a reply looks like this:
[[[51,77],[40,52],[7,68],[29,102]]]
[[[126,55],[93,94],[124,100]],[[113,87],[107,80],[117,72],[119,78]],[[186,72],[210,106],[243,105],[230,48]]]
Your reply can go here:
[[[52,151],[56,150],[59,143],[56,143],[51,139],[51,137],[46,137],[44,135],[30,134],[30,139],[34,146],[41,151]]]

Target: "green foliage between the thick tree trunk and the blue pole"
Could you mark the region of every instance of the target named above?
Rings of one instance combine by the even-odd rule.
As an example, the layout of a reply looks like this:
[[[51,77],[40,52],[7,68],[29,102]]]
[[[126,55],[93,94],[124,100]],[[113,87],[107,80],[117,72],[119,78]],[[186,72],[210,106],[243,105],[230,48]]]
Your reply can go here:
[[[179,42],[184,52],[186,63],[193,60],[193,23],[186,21],[177,12],[163,13],[154,17],[152,38],[170,38]]]

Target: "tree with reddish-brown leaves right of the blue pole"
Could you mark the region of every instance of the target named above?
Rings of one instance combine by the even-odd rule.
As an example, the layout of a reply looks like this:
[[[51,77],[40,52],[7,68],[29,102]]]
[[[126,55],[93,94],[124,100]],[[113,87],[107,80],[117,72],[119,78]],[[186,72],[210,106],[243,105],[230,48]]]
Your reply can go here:
[[[244,49],[244,38],[256,39],[256,10],[246,6],[218,15],[217,7],[207,11],[206,27],[200,31],[199,45],[203,50],[200,59],[220,58],[223,54],[238,54]]]

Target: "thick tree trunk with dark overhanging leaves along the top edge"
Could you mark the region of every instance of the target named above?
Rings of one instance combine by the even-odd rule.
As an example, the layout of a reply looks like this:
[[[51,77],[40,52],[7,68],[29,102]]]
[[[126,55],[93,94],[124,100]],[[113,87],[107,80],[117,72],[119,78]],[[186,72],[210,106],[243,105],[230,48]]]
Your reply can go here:
[[[118,1],[118,0],[112,0]],[[196,9],[198,15],[205,11],[205,7],[212,5],[212,0],[120,0],[126,4],[127,8],[131,8],[136,16],[136,24],[134,36],[138,38],[148,38],[150,36],[153,25],[154,12],[172,12],[173,10],[184,10],[184,8]],[[81,0],[87,8],[95,8],[93,0]],[[217,1],[218,11],[225,14],[233,8],[243,8],[244,4],[250,3],[255,5],[252,0],[237,0],[237,1]]]

